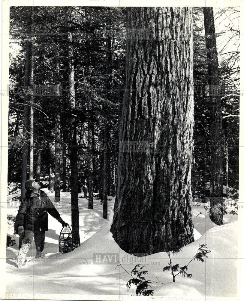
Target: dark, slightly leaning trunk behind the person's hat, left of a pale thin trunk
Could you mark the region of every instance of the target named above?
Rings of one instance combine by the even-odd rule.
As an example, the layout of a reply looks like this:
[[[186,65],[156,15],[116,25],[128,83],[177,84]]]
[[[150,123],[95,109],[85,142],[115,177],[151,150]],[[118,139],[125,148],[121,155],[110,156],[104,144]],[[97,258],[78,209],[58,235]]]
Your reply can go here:
[[[31,41],[26,40],[26,64],[25,64],[25,86],[26,94],[24,97],[24,113],[23,113],[23,151],[22,151],[22,177],[21,177],[21,199],[25,198],[26,188],[26,172],[27,172],[27,160],[28,160],[28,130],[29,130],[29,94],[27,92],[30,83],[30,59],[31,59]]]

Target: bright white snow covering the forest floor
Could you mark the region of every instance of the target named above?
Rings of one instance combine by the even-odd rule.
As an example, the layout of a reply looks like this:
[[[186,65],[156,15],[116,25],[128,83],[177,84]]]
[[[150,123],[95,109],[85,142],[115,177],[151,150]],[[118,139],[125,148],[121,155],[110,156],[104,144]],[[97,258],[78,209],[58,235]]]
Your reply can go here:
[[[44,191],[51,200],[54,193]],[[173,257],[173,264],[187,264],[197,252],[200,244],[207,244],[212,251],[206,262],[194,261],[188,266],[193,278],[176,277],[173,283],[169,271],[163,272],[169,259],[165,252],[137,257],[125,253],[115,243],[110,232],[113,220],[114,198],[109,197],[108,220],[103,219],[100,200],[94,200],[94,210],[88,209],[88,200],[79,198],[80,239],[79,248],[67,254],[59,254],[58,238],[61,224],[49,216],[49,231],[46,232],[44,259],[35,259],[34,243],[27,254],[26,265],[14,267],[18,253],[17,245],[7,248],[6,290],[7,293],[30,294],[80,294],[80,295],[135,295],[135,287],[127,291],[128,271],[136,264],[145,265],[146,279],[152,282],[154,296],[236,296],[237,284],[237,232],[238,216],[225,215],[224,225],[217,226],[210,219],[202,204],[194,203],[192,208],[195,241]],[[70,193],[61,192],[60,203],[55,203],[65,222],[71,224]],[[9,206],[8,214],[17,213],[17,206]],[[13,229],[8,230],[13,237]],[[99,262],[100,260],[100,262]],[[102,262],[103,261],[103,262]],[[107,262],[106,262],[107,261]],[[110,262],[109,262],[110,261]],[[159,282],[157,278],[164,284]],[[155,282],[154,282],[155,281]]]

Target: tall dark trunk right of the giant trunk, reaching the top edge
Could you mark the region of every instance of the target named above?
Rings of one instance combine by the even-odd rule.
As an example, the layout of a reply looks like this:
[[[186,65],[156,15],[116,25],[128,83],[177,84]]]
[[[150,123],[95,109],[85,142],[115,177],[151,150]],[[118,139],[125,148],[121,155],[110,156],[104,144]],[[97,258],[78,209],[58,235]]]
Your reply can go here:
[[[213,8],[203,8],[206,36],[208,84],[210,98],[210,219],[217,225],[223,223],[223,151],[222,151],[222,116],[219,87],[218,55],[216,48]]]

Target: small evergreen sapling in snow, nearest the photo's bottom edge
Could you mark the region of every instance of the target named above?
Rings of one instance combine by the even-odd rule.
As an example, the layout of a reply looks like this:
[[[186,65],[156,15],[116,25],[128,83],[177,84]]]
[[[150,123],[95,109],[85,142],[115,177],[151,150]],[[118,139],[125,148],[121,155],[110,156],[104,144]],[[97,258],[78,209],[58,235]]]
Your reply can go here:
[[[121,265],[120,262],[119,262],[119,265],[116,266],[116,268],[118,266],[121,266],[125,270],[125,272],[127,272],[132,277],[126,284],[127,291],[131,290],[131,285],[134,284],[136,286],[136,295],[137,296],[152,296],[153,295],[153,293],[154,293],[153,290],[148,290],[148,287],[151,287],[150,284],[152,284],[152,282],[146,280],[145,277],[143,276],[148,273],[148,271],[143,271],[143,268],[145,267],[145,265],[141,266],[141,265],[137,264],[133,268],[131,273],[126,271],[126,269]]]

